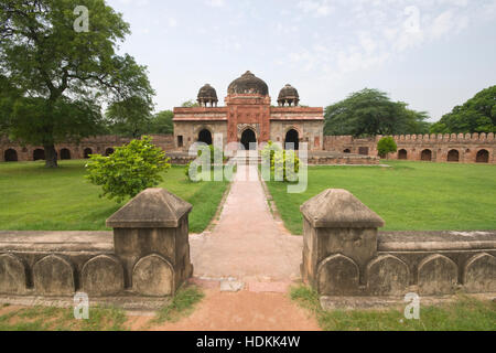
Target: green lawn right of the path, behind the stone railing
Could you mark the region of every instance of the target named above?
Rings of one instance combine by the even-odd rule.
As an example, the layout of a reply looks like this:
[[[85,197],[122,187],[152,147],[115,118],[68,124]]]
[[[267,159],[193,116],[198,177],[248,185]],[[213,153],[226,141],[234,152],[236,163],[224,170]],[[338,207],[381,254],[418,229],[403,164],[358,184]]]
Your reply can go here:
[[[302,234],[300,205],[346,189],[386,221],[384,231],[496,229],[496,165],[387,161],[380,167],[310,167],[309,188],[267,182],[287,228]]]

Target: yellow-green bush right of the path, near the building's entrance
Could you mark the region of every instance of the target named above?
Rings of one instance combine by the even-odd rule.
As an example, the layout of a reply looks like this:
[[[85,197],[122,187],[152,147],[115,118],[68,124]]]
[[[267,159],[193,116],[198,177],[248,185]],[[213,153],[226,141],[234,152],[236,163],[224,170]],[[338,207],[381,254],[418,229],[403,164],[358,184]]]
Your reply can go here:
[[[283,181],[298,181],[300,171],[300,159],[293,150],[282,150],[281,147],[269,141],[261,151],[263,160],[270,158],[270,171],[274,178],[282,178]],[[270,156],[270,157],[269,157]],[[292,165],[289,161],[293,161]]]

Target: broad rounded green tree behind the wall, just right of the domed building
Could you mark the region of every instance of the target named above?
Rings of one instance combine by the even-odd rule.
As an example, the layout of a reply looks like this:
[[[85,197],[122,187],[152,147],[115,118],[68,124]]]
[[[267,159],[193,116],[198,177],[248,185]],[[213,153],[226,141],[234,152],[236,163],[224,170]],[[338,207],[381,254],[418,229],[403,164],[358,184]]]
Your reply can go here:
[[[326,135],[398,135],[429,132],[424,111],[391,101],[386,93],[365,88],[325,108]]]

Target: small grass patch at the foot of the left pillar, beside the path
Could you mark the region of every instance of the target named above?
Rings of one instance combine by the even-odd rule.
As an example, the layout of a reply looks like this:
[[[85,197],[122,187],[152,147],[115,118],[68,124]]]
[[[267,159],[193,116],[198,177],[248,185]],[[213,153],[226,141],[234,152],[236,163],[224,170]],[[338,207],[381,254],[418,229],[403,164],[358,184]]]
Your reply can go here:
[[[183,287],[168,306],[157,312],[157,317],[151,323],[176,322],[188,315],[203,298],[204,293],[198,287],[193,285]]]

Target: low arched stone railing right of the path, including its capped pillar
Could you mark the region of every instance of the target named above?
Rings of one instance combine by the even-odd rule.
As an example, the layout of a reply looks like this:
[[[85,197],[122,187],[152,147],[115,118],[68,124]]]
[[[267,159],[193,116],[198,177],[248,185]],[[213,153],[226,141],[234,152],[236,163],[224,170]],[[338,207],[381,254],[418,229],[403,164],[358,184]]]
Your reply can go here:
[[[385,222],[345,190],[302,205],[303,280],[323,297],[496,292],[496,232],[380,233]]]

